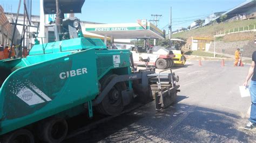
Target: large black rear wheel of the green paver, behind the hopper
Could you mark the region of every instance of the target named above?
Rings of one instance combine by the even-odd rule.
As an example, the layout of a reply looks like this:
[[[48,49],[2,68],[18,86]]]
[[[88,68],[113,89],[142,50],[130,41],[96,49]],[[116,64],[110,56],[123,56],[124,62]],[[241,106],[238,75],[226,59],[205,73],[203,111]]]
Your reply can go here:
[[[102,80],[102,90],[107,86],[107,84],[117,75],[110,75],[104,77]],[[97,105],[96,109],[99,113],[104,115],[118,115],[124,109],[122,102],[122,90],[126,89],[125,82],[118,82],[109,93],[104,97],[103,101]]]

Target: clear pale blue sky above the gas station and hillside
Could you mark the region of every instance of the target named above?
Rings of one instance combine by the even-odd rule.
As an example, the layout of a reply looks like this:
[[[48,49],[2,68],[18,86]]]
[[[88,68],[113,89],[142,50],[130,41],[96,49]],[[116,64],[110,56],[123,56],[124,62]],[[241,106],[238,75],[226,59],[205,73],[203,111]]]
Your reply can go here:
[[[213,12],[226,11],[245,0],[86,0],[81,20],[98,23],[134,23],[137,19],[152,19],[151,15],[163,15],[159,28],[169,24],[172,6],[173,30],[187,27],[196,19],[204,19]],[[0,0],[6,11],[17,12],[18,0]],[[23,9],[21,9],[23,10]],[[32,15],[39,15],[39,0],[32,0]]]

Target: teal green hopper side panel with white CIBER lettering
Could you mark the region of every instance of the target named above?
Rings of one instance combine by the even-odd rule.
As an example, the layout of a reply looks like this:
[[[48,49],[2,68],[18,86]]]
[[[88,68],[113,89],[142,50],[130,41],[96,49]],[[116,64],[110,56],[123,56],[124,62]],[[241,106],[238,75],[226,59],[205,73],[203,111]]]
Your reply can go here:
[[[1,88],[0,133],[94,99],[99,92],[96,70],[95,49],[15,70]]]

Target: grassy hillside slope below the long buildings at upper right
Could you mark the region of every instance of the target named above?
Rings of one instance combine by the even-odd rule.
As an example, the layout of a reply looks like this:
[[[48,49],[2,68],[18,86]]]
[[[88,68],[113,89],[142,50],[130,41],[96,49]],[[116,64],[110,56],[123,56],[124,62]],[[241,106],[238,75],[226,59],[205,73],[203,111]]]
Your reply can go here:
[[[241,31],[243,30],[243,27],[245,27],[245,30],[248,30],[248,28],[252,30],[254,28],[254,25],[256,26],[256,19],[219,23],[205,27],[200,27],[186,32],[172,34],[172,38],[189,38],[197,36],[212,37],[212,34],[215,32],[220,33],[221,31],[221,33],[224,33],[225,31],[227,33],[228,29],[230,29],[230,32],[232,32],[233,30],[235,32],[238,30]]]

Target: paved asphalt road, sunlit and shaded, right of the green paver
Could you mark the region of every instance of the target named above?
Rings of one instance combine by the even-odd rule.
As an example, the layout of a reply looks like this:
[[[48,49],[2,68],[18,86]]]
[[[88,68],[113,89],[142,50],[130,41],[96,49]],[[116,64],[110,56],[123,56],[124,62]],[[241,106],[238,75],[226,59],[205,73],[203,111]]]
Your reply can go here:
[[[146,104],[65,142],[117,141],[255,141],[256,129],[243,130],[250,97],[241,98],[238,86],[250,67],[226,62],[188,62],[174,69],[180,76],[178,103],[157,112]]]

